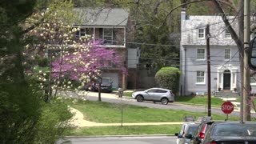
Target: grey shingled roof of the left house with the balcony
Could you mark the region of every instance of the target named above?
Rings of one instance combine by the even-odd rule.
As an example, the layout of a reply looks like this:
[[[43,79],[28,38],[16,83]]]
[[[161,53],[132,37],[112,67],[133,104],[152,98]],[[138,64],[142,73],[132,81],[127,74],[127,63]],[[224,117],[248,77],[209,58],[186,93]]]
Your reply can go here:
[[[121,8],[75,8],[84,26],[126,26],[128,10]]]

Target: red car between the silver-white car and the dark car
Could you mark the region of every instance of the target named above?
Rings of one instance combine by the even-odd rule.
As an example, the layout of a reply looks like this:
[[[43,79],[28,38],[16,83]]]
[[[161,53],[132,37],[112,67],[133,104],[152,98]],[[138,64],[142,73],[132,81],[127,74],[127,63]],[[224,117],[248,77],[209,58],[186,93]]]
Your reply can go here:
[[[205,138],[206,130],[209,129],[210,125],[213,124],[214,121],[202,121],[198,129],[194,133],[194,137],[191,138],[191,144],[200,144]]]

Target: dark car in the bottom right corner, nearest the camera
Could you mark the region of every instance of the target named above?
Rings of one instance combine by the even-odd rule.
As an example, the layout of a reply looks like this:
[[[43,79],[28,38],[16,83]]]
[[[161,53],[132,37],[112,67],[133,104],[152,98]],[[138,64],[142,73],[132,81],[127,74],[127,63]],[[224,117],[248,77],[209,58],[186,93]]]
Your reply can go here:
[[[202,144],[256,143],[256,122],[214,122]]]

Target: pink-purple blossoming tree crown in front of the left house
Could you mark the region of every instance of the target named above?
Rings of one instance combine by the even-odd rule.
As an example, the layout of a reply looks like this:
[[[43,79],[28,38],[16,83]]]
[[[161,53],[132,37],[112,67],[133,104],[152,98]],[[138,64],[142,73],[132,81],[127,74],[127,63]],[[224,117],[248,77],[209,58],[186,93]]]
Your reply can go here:
[[[78,91],[102,78],[102,72],[110,67],[126,73],[116,51],[99,44],[100,42],[87,42],[82,47],[70,48],[64,56],[52,62],[52,77],[58,79],[57,82],[62,82],[64,88],[70,88],[72,82],[78,82],[79,86],[75,89]],[[69,82],[65,83],[65,79]],[[100,94],[98,99],[101,100]]]

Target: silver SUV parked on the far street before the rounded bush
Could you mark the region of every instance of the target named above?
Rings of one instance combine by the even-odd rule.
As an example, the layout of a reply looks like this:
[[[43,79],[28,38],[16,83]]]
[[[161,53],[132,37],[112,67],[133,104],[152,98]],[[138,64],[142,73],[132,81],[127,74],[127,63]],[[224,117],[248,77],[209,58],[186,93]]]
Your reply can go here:
[[[144,91],[136,91],[132,94],[138,102],[154,101],[167,105],[168,102],[174,102],[174,94],[171,90],[162,88],[151,88]]]

